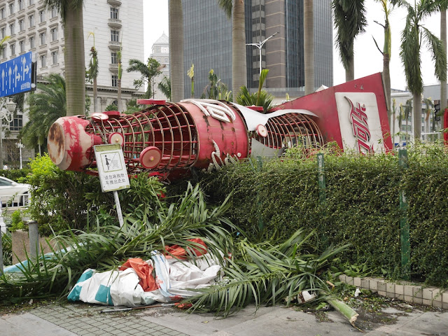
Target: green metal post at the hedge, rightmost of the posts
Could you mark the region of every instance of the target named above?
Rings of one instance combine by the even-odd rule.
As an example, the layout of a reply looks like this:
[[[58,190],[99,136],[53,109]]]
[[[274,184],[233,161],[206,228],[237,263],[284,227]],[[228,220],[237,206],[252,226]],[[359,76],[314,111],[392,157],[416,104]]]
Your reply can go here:
[[[398,150],[398,164],[403,169],[407,169],[407,150]],[[411,278],[410,264],[410,242],[409,242],[409,222],[407,221],[407,197],[405,190],[400,190],[400,246],[401,246],[401,269],[402,277],[405,280]]]

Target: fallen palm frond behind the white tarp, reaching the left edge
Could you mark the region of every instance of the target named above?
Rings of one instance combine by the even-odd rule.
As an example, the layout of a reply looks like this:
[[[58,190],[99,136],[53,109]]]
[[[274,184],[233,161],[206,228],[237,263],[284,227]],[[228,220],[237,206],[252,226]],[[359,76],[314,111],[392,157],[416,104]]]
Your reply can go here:
[[[60,250],[41,255],[36,262],[28,258],[21,273],[5,273],[0,277],[0,300],[13,297],[45,297],[66,295],[87,268],[99,271],[114,269],[127,258],[151,258],[151,251],[165,252],[165,246],[179,245],[193,251],[197,244],[188,241],[201,238],[211,253],[232,252],[233,225],[225,217],[230,204],[207,206],[198,186],[188,186],[177,202],[158,200],[157,209],[137,207],[125,215],[123,228],[102,226],[99,221],[87,232],[68,231],[52,239]],[[153,212],[157,216],[153,216]],[[149,219],[151,218],[151,221]],[[49,241],[48,245],[52,248]],[[193,252],[190,252],[193,253]]]

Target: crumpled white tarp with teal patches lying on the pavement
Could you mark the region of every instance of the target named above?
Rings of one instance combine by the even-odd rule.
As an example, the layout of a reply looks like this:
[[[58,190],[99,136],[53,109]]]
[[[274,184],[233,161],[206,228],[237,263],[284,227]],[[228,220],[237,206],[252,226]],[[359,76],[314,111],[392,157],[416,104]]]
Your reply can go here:
[[[146,263],[153,269],[154,287],[157,289],[144,291],[139,272],[133,268],[108,272],[86,269],[68,299],[135,307],[156,301],[179,301],[182,297],[195,295],[191,289],[204,288],[221,279],[221,265],[209,253],[197,257],[194,265],[188,260],[167,259],[158,251],[153,251],[151,260],[146,260]]]

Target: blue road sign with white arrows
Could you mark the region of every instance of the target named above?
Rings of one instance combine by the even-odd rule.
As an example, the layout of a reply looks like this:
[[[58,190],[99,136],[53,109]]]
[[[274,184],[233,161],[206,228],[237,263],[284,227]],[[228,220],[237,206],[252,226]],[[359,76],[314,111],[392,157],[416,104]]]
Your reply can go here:
[[[36,88],[32,76],[31,51],[0,64],[0,97],[7,97]]]

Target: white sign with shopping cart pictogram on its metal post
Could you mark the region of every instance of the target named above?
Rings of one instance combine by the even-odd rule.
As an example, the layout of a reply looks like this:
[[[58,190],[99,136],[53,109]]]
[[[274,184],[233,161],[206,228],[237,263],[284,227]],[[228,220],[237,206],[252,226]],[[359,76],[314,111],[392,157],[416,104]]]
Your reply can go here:
[[[103,193],[113,191],[113,198],[115,199],[118,221],[121,228],[124,222],[117,190],[130,188],[123,150],[119,144],[97,145],[93,148],[97,160],[102,191]]]

